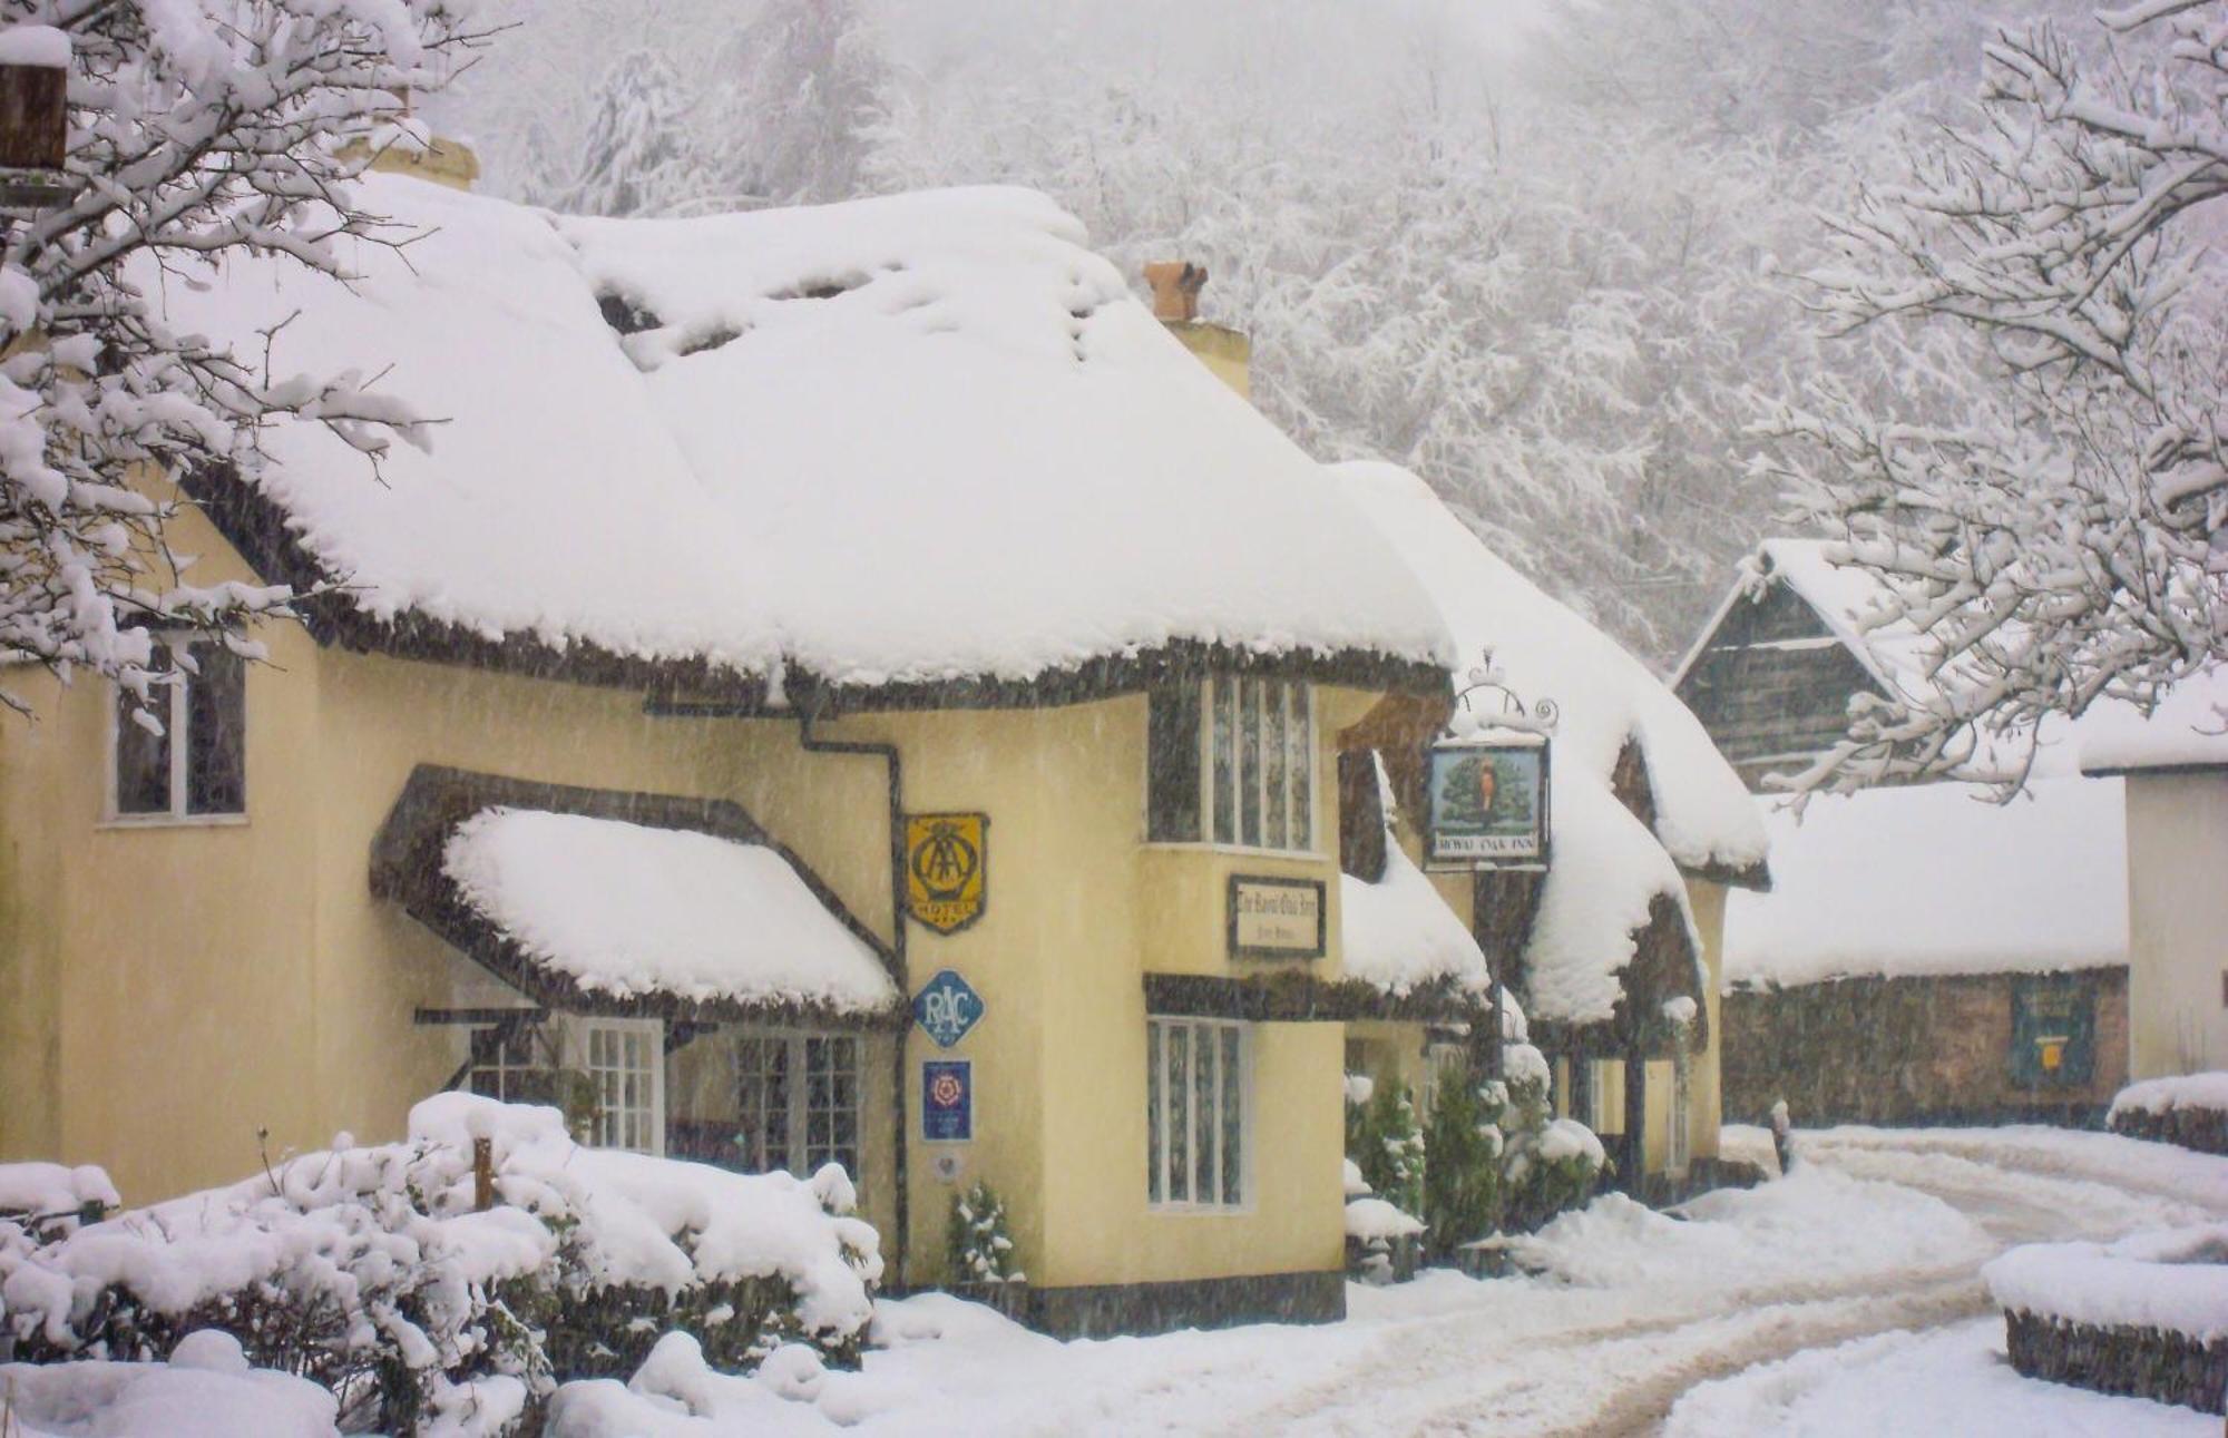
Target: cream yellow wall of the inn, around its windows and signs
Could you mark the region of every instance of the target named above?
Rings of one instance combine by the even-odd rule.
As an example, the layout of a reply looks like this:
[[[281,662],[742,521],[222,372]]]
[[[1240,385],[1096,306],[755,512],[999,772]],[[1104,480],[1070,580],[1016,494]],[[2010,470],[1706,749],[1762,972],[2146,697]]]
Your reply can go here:
[[[236,577],[223,543],[180,519],[196,579]],[[238,574],[245,577],[245,574]],[[80,683],[0,748],[7,799],[0,913],[4,1158],[109,1166],[129,1200],[252,1173],[267,1151],[403,1131],[450,1077],[461,1033],[455,959],[368,888],[372,837],[417,764],[521,779],[733,797],[887,933],[880,761],[811,755],[786,719],[657,717],[619,690],[319,650],[263,626],[272,666],[247,679],[247,819],[102,826],[107,703]],[[1335,735],[1372,695],[1317,690],[1312,857],[1143,839],[1145,699],[1043,710],[893,712],[822,728],[905,755],[911,810],[991,817],[989,904],[958,933],[909,933],[913,986],[958,968],[987,1017],[949,1057],[976,1062],[978,1137],[960,1182],[1012,1202],[1040,1284],[1337,1269],[1343,1260],[1339,1024],[1252,1033],[1250,1200],[1239,1213],[1147,1211],[1143,975],[1261,973],[1225,944],[1230,873],[1323,881],[1335,977]],[[67,962],[65,962],[67,957]],[[885,1040],[880,1051],[887,1053]],[[905,1037],[907,1073],[940,1057]],[[887,1071],[885,1071],[887,1077]],[[907,1113],[905,1122],[918,1124]],[[898,1113],[867,1086],[867,1215],[889,1231]],[[934,1278],[951,1189],[913,1142],[907,1278]]]

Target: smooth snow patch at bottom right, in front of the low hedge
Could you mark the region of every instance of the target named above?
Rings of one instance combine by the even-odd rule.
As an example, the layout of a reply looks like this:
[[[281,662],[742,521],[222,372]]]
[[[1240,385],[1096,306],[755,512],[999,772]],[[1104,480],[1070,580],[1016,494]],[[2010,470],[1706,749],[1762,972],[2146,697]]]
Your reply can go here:
[[[2195,1409],[2021,1378],[2003,1353],[2003,1322],[1976,1318],[1860,1338],[1704,1382],[1671,1409],[1664,1438],[2217,1438],[2219,1429],[2217,1416]]]

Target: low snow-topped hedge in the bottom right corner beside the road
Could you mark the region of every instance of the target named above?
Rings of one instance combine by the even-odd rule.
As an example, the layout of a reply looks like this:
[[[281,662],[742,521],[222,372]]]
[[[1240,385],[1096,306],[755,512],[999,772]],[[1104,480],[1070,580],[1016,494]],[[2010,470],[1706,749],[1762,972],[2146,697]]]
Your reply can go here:
[[[2219,1414],[2228,1396],[2228,1224],[2110,1244],[2027,1244],[1981,1269],[2012,1367]]]

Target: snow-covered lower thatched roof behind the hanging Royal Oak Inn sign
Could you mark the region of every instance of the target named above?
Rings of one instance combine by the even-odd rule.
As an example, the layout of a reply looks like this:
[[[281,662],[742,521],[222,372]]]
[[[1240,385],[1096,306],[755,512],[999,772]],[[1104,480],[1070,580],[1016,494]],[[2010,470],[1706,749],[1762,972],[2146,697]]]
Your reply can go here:
[[[1526,951],[1535,1020],[1611,1017],[1618,975],[1669,902],[1687,915],[1682,868],[1760,873],[1765,826],[1740,777],[1687,706],[1626,654],[1493,554],[1415,474],[1335,465],[1348,496],[1415,568],[1462,654],[1493,666],[1526,701],[1553,699],[1553,861]],[[1653,830],[1613,790],[1635,746],[1655,804]],[[1691,935],[1689,935],[1691,939]]]

